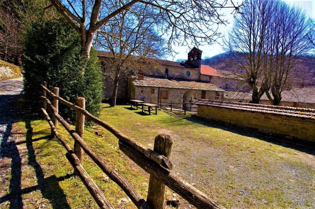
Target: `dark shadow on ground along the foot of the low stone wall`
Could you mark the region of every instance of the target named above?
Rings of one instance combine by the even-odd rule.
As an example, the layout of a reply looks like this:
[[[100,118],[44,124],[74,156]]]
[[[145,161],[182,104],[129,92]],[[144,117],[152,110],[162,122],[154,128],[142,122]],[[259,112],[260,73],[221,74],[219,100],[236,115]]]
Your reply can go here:
[[[284,135],[263,133],[260,132],[258,129],[247,128],[217,120],[210,120],[208,118],[200,117],[198,115],[190,115],[188,117],[186,116],[183,118],[193,123],[202,124],[211,128],[224,129],[238,135],[253,137],[272,144],[288,147],[291,149],[295,149],[297,151],[305,152],[307,154],[315,155],[314,150],[315,142],[305,141],[301,139],[289,139],[286,138]],[[174,123],[172,124],[175,125]]]

